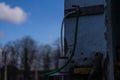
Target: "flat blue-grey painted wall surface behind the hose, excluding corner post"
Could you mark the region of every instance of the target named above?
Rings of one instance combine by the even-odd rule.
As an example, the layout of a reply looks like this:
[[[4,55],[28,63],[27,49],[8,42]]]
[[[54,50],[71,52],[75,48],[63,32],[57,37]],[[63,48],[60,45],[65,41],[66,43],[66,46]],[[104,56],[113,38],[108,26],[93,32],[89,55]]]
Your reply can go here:
[[[104,5],[104,0],[65,0],[65,9],[72,8],[72,5],[81,7]],[[65,38],[68,48],[73,46],[76,18],[65,20]],[[79,29],[77,48],[75,51],[75,65],[88,65],[92,63],[95,52],[106,53],[106,32],[105,14],[81,16],[79,17]],[[69,53],[68,53],[69,55]],[[87,60],[84,60],[87,58]]]

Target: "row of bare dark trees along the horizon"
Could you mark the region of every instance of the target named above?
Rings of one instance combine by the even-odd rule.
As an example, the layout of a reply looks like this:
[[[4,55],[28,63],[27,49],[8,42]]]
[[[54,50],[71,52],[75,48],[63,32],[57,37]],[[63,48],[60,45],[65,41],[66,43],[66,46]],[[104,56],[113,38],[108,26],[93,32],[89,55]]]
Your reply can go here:
[[[26,78],[31,70],[57,69],[59,56],[59,39],[53,45],[40,45],[32,37],[25,36],[0,46],[0,65],[24,70]]]

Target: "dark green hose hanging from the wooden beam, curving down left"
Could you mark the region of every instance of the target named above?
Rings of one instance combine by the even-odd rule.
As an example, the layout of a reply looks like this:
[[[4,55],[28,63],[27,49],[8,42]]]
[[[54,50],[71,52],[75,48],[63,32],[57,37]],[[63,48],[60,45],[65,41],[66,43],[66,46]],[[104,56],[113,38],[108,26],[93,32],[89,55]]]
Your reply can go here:
[[[54,74],[54,73],[57,73],[57,72],[61,71],[62,69],[64,69],[70,63],[70,61],[73,58],[73,56],[75,54],[76,44],[77,44],[78,22],[79,22],[79,8],[76,9],[76,14],[77,14],[77,16],[76,16],[75,35],[74,35],[74,45],[73,45],[72,54],[71,54],[69,60],[61,68],[45,73],[45,76],[48,76],[48,75],[51,75],[51,74]]]

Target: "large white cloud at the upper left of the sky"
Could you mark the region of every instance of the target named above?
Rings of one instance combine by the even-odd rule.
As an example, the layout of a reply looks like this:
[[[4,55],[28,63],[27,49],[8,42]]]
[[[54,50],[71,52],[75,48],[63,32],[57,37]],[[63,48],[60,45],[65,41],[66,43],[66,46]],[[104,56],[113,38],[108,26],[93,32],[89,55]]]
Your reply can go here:
[[[21,24],[26,20],[27,14],[20,7],[11,8],[5,3],[0,3],[0,20]]]

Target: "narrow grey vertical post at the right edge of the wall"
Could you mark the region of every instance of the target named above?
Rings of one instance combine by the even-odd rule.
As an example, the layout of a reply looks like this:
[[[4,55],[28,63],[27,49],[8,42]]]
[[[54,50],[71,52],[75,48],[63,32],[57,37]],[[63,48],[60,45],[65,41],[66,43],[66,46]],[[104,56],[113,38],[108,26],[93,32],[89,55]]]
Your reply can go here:
[[[108,67],[108,70],[109,70],[109,73],[108,73],[108,78],[109,80],[114,80],[114,57],[113,57],[113,51],[114,51],[114,47],[113,47],[113,35],[112,35],[112,27],[113,27],[113,21],[112,21],[112,10],[111,10],[111,6],[112,6],[112,3],[111,3],[112,0],[107,0],[107,13],[108,13],[108,17],[109,17],[109,27],[108,27],[108,30],[109,30],[109,57],[110,57],[110,62],[109,62],[109,67]]]

